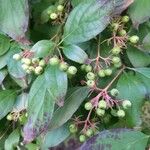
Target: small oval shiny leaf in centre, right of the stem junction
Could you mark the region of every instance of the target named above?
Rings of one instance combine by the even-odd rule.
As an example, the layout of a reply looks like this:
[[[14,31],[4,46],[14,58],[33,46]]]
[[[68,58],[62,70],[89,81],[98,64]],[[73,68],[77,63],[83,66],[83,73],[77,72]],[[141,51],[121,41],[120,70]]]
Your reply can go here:
[[[79,46],[65,45],[63,49],[65,56],[77,63],[83,64],[87,61],[88,55]]]

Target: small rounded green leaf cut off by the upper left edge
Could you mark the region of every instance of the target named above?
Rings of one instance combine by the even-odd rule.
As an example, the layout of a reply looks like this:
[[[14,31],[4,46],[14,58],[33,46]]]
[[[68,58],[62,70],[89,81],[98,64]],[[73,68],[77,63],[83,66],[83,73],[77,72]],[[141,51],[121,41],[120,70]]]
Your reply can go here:
[[[10,47],[9,38],[5,35],[0,34],[0,56],[4,55]]]

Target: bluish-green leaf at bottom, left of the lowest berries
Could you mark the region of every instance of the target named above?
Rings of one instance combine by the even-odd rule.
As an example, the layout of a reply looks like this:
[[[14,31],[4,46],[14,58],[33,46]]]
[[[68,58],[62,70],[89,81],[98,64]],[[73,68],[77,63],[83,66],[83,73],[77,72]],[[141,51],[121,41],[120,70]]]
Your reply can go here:
[[[68,124],[64,124],[58,129],[48,131],[42,141],[41,149],[46,150],[50,147],[57,146],[69,137],[70,131],[68,130]]]

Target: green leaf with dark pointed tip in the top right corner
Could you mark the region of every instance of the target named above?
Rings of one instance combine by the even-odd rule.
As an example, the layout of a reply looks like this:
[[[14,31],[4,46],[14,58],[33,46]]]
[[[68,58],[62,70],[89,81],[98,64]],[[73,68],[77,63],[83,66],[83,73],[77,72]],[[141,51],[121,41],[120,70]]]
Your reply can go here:
[[[140,13],[139,13],[140,12]],[[149,0],[135,0],[129,7],[128,13],[136,28],[150,18],[150,1]]]

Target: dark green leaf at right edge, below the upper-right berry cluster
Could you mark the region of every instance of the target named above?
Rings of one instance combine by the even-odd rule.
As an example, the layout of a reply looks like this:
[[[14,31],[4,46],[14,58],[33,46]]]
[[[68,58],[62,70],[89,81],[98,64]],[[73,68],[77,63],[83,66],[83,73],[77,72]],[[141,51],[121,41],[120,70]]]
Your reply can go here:
[[[127,49],[127,55],[134,67],[145,67],[150,64],[150,55],[141,52],[136,47],[129,46]]]

